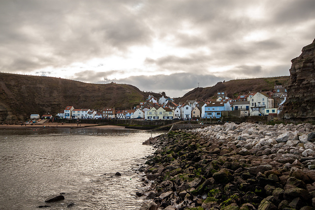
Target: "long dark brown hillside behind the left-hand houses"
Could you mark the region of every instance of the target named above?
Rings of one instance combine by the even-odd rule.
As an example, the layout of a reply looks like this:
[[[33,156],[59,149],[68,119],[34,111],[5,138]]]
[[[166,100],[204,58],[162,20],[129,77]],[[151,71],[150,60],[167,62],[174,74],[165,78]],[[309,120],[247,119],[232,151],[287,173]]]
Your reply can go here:
[[[149,94],[132,85],[89,84],[73,80],[0,73],[0,122],[25,120],[31,114],[57,114],[66,106],[75,108],[130,109]]]

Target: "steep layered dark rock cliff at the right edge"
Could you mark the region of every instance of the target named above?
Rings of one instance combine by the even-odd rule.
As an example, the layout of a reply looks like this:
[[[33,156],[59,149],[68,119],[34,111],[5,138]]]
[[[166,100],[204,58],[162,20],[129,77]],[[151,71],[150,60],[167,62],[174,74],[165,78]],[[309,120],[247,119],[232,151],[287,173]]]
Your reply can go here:
[[[290,81],[287,87],[285,119],[315,119],[315,39],[303,47],[302,54],[291,60]]]

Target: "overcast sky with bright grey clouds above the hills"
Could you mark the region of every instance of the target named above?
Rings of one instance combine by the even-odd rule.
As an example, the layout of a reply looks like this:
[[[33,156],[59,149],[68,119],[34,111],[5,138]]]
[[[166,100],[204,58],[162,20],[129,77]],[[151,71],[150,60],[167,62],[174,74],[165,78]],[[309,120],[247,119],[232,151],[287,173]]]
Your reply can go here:
[[[315,0],[0,0],[0,71],[183,96],[289,75]]]

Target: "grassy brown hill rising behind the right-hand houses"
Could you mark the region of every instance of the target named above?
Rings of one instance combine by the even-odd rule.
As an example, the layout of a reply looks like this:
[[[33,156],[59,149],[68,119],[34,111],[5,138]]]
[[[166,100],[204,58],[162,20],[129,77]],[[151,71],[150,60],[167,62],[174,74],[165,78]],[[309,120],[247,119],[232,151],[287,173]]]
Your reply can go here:
[[[227,82],[219,82],[212,87],[195,88],[186,93],[183,97],[176,98],[176,101],[184,102],[195,99],[205,100],[216,95],[218,91],[226,91],[227,96],[233,98],[239,94],[247,94],[249,91],[258,92],[273,90],[275,85],[284,85],[284,87],[286,87],[288,81],[289,76],[230,80]]]

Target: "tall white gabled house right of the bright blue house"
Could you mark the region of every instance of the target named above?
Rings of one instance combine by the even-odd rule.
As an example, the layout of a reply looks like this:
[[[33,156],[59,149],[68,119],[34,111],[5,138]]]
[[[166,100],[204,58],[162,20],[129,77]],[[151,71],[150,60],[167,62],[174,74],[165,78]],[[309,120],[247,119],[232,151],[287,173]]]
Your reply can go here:
[[[265,109],[274,108],[274,99],[265,92],[257,92],[250,100],[250,115],[264,116]]]

